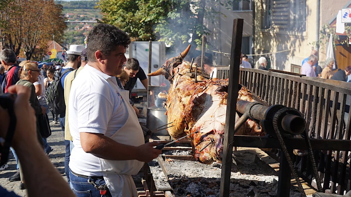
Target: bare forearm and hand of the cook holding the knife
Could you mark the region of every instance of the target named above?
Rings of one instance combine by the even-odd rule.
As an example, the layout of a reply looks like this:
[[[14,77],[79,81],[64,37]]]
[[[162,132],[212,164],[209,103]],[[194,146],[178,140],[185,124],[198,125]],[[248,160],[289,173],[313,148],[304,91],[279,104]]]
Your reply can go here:
[[[80,133],[80,144],[85,152],[109,160],[137,159],[149,162],[161,154],[161,150],[153,148],[158,145],[158,142],[146,143],[134,147],[118,143],[109,137],[96,133]]]

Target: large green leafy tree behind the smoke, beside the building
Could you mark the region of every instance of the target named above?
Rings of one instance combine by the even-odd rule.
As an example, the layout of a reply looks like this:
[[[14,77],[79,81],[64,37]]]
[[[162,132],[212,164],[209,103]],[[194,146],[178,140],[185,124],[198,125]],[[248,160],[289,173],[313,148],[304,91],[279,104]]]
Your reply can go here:
[[[236,0],[234,0],[236,1]],[[204,18],[214,20],[216,7],[232,1],[220,0],[100,0],[102,22],[115,25],[134,40],[165,41],[182,50],[191,40],[192,48],[201,43],[201,36],[210,31]]]

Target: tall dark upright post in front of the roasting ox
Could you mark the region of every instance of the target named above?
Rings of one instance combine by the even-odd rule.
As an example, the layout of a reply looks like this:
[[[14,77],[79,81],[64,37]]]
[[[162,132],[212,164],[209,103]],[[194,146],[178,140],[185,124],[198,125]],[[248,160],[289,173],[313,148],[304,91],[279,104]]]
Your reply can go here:
[[[232,34],[232,50],[230,58],[229,70],[229,86],[227,113],[225,120],[225,132],[223,140],[223,156],[222,156],[222,174],[220,182],[220,196],[229,196],[230,175],[232,168],[233,155],[233,140],[235,121],[230,118],[235,118],[238,98],[238,83],[239,83],[239,67],[241,54],[241,40],[243,38],[244,19],[234,19],[233,34]],[[233,119],[232,119],[233,120]]]

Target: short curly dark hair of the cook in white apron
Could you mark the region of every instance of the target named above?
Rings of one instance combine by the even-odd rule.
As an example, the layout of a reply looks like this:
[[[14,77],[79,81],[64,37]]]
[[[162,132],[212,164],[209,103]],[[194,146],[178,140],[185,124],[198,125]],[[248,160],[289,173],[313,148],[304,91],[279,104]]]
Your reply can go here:
[[[95,52],[100,50],[105,55],[115,50],[118,46],[128,48],[131,39],[128,34],[113,25],[99,23],[90,31],[87,38],[88,61],[96,62]]]

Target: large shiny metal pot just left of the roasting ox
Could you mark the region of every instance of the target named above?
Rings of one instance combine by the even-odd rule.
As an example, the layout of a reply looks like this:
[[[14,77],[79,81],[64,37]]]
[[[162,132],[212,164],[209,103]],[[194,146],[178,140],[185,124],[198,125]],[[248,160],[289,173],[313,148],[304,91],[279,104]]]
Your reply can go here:
[[[165,115],[165,113],[166,113],[166,108],[161,108],[161,107],[147,108],[146,127],[152,131],[155,131],[156,128],[167,124],[167,116]],[[156,133],[153,133],[153,134],[168,135],[168,132],[166,129],[164,129],[161,131],[157,131]]]

